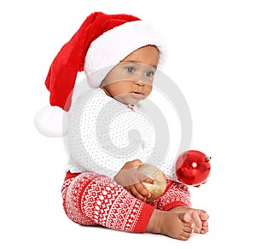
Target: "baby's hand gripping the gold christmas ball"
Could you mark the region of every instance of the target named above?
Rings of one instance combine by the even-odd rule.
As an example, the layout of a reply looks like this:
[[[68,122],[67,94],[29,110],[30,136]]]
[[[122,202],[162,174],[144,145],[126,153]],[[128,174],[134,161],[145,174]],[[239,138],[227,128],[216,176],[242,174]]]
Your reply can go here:
[[[144,188],[141,182],[153,184],[154,180],[137,171],[137,167],[143,165],[139,159],[125,163],[118,174],[113,179],[122,185],[127,191],[139,200],[146,200],[150,197],[150,193]]]

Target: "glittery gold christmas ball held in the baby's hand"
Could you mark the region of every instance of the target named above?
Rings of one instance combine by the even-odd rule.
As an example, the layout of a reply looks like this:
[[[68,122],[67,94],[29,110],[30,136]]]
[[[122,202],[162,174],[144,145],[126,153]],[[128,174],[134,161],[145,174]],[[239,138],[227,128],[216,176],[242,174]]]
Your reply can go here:
[[[154,184],[148,182],[142,182],[143,186],[147,188],[151,196],[147,201],[152,201],[158,199],[166,190],[166,176],[163,171],[160,171],[154,165],[143,164],[137,169],[144,175],[154,179]]]

